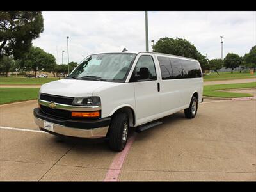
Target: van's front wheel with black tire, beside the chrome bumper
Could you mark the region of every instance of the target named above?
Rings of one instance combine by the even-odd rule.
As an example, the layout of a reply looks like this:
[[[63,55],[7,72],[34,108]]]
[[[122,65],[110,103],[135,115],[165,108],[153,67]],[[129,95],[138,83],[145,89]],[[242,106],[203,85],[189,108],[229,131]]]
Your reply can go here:
[[[129,118],[126,113],[118,113],[113,116],[109,130],[109,148],[122,151],[127,143]]]

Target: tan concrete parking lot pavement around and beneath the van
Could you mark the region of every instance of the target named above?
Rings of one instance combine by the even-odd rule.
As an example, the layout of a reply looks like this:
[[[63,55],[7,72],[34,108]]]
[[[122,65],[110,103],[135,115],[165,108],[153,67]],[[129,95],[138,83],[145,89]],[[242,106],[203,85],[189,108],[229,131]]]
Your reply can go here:
[[[205,99],[192,120],[180,111],[131,131],[126,156],[38,131],[36,106],[0,106],[0,180],[256,180],[256,100]]]

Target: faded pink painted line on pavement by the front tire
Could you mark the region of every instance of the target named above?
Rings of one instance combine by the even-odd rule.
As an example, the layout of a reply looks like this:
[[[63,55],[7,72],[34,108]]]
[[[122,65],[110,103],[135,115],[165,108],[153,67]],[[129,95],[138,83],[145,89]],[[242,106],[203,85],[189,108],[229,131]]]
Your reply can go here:
[[[104,181],[117,181],[118,175],[119,175],[122,165],[124,163],[125,156],[127,155],[129,149],[131,148],[132,143],[135,140],[135,138],[136,138],[136,133],[134,133],[131,136],[131,138],[129,138],[124,150],[122,150],[122,152],[119,152],[118,154],[116,154],[115,158],[113,159],[113,161],[109,167],[108,173],[106,174]]]

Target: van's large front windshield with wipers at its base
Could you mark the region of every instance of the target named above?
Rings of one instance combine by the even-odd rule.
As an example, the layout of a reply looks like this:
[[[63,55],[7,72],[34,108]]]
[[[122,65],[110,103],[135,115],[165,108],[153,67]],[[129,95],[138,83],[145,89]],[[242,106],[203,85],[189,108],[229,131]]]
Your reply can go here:
[[[86,57],[70,76],[74,79],[125,82],[136,54],[107,53]]]

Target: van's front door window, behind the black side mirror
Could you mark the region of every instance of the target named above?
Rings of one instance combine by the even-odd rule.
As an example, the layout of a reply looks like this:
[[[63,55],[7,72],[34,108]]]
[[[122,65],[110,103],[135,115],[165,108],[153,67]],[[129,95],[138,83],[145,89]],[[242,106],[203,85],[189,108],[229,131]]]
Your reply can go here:
[[[135,79],[134,77],[136,75],[140,76],[141,72],[147,69],[148,69],[148,78],[145,79],[145,81],[156,80],[156,68],[155,68],[155,64],[152,56],[148,56],[148,55],[140,56],[136,64],[136,67],[134,68],[130,81],[134,81]]]

